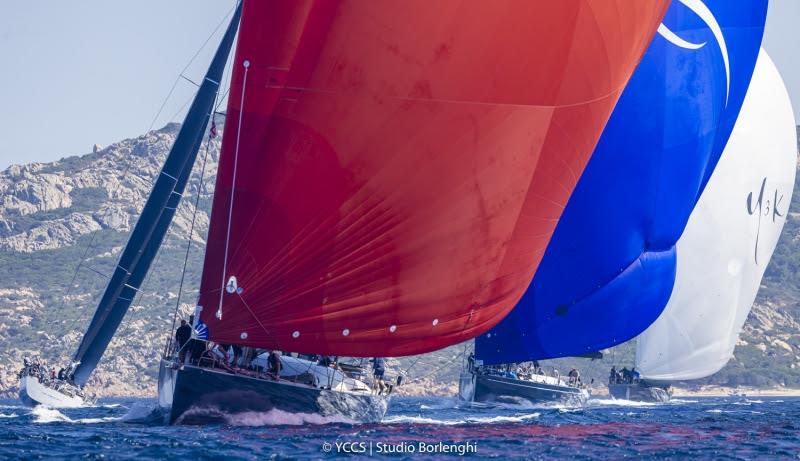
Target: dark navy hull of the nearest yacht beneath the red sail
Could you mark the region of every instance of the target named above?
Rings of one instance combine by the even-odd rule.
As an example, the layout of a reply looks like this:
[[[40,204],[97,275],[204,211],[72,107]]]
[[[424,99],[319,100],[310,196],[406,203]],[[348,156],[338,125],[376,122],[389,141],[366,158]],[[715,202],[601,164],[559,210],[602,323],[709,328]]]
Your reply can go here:
[[[378,422],[389,398],[369,392],[339,392],[224,371],[161,362],[159,405],[170,424],[216,422],[224,415],[280,410],[288,413]]]

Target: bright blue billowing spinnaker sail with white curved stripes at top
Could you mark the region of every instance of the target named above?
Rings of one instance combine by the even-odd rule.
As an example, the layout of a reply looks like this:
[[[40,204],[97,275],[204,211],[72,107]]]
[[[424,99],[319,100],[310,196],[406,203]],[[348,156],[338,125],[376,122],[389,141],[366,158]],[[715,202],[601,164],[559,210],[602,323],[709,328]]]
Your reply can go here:
[[[766,11],[767,0],[672,2],[531,286],[477,339],[480,359],[582,355],[655,321],[672,291],[675,243],[747,92]]]

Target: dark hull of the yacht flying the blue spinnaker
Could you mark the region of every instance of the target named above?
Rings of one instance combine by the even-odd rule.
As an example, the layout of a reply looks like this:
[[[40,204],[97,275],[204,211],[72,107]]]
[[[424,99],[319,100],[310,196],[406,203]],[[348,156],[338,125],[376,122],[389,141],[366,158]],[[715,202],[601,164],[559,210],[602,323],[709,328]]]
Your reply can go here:
[[[461,376],[462,399],[481,403],[563,403],[583,405],[589,400],[585,389],[566,384],[533,382],[493,375]]]

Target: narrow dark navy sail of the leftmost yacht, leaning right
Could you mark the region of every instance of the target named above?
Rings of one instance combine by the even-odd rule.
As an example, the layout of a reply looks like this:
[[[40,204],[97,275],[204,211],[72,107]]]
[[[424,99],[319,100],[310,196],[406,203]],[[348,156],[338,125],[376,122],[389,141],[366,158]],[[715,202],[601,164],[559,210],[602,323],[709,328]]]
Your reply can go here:
[[[241,3],[233,14],[175,143],[142,209],[142,214],[120,256],[114,274],[106,286],[89,328],[75,353],[74,362],[78,365],[73,379],[78,385],[86,383],[103,356],[172,222],[197,157],[205,127],[214,109],[240,15]]]

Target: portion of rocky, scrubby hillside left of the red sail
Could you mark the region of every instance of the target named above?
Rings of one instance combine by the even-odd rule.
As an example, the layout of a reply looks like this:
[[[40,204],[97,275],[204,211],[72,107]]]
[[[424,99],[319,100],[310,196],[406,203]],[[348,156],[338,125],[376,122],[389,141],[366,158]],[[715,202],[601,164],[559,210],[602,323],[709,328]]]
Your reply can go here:
[[[66,363],[74,352],[177,129],[167,125],[91,154],[14,165],[0,173],[0,389],[16,385],[23,356]],[[182,299],[196,296],[219,138],[208,145],[203,185],[205,150],[144,294],[93,377],[91,385],[101,394],[154,389],[199,194],[190,283]]]

